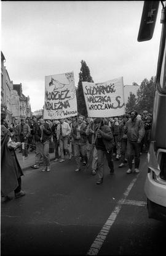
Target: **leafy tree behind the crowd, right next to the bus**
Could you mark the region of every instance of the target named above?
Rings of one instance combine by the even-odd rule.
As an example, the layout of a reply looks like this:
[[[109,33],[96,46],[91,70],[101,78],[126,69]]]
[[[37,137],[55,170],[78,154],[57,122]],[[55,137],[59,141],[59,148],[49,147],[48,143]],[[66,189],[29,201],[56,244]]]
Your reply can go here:
[[[143,112],[143,110],[148,110],[152,113],[153,102],[154,102],[154,89],[155,89],[156,77],[152,76],[151,80],[144,78],[140,88],[137,91],[137,110],[138,112]]]

